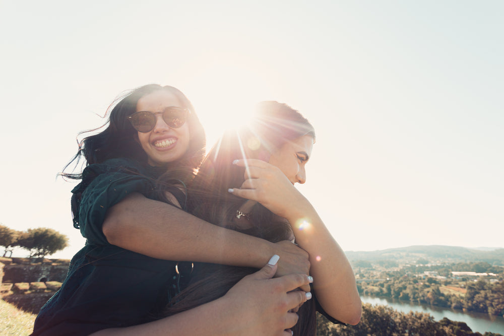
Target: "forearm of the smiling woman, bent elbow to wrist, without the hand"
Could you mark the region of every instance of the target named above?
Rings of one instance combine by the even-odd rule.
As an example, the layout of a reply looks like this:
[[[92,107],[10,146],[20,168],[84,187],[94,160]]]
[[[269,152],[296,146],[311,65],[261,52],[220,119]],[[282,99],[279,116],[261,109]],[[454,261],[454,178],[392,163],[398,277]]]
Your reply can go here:
[[[275,245],[207,223],[135,193],[110,208],[103,233],[114,245],[154,258],[261,267]]]

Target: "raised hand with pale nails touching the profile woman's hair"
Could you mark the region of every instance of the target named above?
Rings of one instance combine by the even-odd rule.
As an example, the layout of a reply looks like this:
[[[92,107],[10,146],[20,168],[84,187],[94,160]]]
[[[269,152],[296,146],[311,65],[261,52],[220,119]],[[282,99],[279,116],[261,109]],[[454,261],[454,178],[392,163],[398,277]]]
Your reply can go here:
[[[245,181],[229,191],[233,195],[258,201],[274,214],[289,219],[289,215],[308,205],[308,200],[276,166],[257,159],[236,160],[245,170]]]

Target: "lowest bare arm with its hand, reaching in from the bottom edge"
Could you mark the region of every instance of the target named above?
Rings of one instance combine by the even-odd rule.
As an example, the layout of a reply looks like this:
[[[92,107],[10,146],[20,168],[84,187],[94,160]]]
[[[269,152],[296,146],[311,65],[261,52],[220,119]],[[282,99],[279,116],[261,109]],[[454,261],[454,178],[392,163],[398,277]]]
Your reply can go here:
[[[274,261],[271,261],[273,263]],[[277,265],[267,264],[243,278],[228,293],[215,301],[146,324],[112,328],[94,336],[148,335],[284,335],[297,322],[289,312],[306,301],[295,288],[308,284],[307,276],[293,274],[271,279]]]

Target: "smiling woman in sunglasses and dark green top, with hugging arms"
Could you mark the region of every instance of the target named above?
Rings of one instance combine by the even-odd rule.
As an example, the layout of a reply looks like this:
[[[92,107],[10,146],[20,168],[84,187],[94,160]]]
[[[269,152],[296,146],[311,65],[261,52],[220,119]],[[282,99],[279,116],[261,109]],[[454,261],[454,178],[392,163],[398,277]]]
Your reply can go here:
[[[72,258],[61,289],[42,307],[34,335],[87,335],[132,325],[141,330],[123,332],[273,335],[295,324],[290,310],[307,295],[292,290],[309,291],[307,253],[181,210],[204,146],[191,102],[173,87],[146,85],[113,107],[108,126],[87,137],[74,157],[84,157],[86,168],[63,174],[82,180],[72,190],[72,213],[86,245]],[[161,175],[164,182],[156,182]],[[268,264],[224,297],[155,321],[187,285],[191,261]],[[280,277],[269,279],[275,273]],[[187,323],[196,319],[198,324]]]

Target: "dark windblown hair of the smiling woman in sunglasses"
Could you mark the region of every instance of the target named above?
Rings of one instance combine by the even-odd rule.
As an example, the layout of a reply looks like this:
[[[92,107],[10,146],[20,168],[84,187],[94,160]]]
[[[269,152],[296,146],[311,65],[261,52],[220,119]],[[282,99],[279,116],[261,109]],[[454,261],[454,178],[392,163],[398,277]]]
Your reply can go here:
[[[163,184],[167,185],[172,181],[177,181],[177,183],[182,182],[182,184],[190,182],[205,156],[205,131],[196,115],[193,104],[191,104],[187,97],[180,90],[172,86],[160,86],[158,84],[144,85],[118,97],[110,105],[110,107],[113,106],[112,110],[110,110],[110,107],[107,110],[107,114],[109,114],[108,120],[103,126],[99,127],[105,127],[105,129],[96,135],[88,136],[80,141],[77,154],[59,175],[69,179],[82,179],[82,172],[65,172],[72,163],[75,163],[77,167],[82,158],[86,160],[85,166],[103,163],[106,160],[114,158],[133,159],[147,165],[147,154],[136,141],[137,130],[129,122],[128,116],[137,112],[137,103],[140,98],[158,90],[170,92],[177,97],[182,107],[189,110],[186,122],[189,126],[190,137],[187,152],[179,160],[170,162],[163,167],[166,173],[162,176],[164,183],[158,183],[158,187],[160,187],[159,193],[163,192]],[[94,130],[96,129],[83,131],[79,134]],[[72,213],[74,218],[76,218],[76,212],[78,211],[80,196],[80,194],[72,196]],[[78,228],[78,223],[74,223],[74,226]]]

